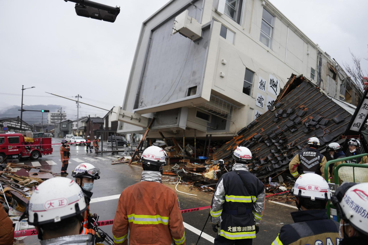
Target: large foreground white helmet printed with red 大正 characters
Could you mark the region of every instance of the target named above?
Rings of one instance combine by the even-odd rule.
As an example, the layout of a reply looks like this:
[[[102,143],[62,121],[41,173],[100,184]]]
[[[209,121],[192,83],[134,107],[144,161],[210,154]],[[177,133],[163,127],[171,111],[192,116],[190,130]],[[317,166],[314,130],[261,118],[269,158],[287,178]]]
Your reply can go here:
[[[28,224],[39,226],[79,216],[87,209],[82,189],[74,180],[55,177],[42,182],[29,199]],[[80,216],[81,221],[83,217]]]

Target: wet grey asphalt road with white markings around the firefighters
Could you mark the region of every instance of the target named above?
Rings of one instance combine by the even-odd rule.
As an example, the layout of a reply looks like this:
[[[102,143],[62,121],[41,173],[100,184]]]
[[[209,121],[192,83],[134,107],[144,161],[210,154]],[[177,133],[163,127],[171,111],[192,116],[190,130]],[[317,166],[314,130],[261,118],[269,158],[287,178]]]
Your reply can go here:
[[[59,143],[61,139],[53,138],[53,143]],[[53,146],[53,154],[49,156],[44,156],[38,160],[13,160],[13,162],[21,162],[25,165],[38,165],[38,163],[47,170],[51,170],[54,173],[60,173],[61,162],[60,162],[60,145]],[[114,156],[111,153],[105,153],[103,156],[101,154],[86,153],[85,146],[74,146],[71,145],[71,160],[69,161],[68,173],[81,162],[88,162],[93,164],[95,167],[100,168],[101,178],[95,181],[93,185],[93,196],[94,198],[101,198],[106,196],[118,195],[126,187],[133,185],[140,181],[142,168],[137,165],[129,166],[127,164],[115,164],[112,165],[112,160]],[[106,146],[104,146],[106,148]],[[100,159],[98,159],[98,158]],[[92,160],[91,160],[92,159]],[[104,160],[102,160],[104,159]],[[50,161],[51,160],[51,161]],[[53,161],[53,162],[52,162]],[[33,163],[32,163],[33,162]],[[37,163],[38,162],[38,163]],[[50,165],[53,164],[53,165]],[[56,164],[54,164],[56,163]],[[67,178],[71,178],[69,174]],[[163,177],[163,183],[168,185],[170,188],[175,189],[174,184],[169,184],[170,177]],[[189,196],[182,193],[178,193],[178,198],[180,199],[181,209],[192,209],[195,207],[209,206],[212,199],[212,192],[200,192],[196,190],[190,190],[184,185],[178,185],[178,190],[183,192],[188,192],[192,194],[197,194],[197,196]],[[93,202],[90,205],[92,213],[97,213],[99,221],[102,220],[112,220],[114,219],[118,199],[105,200]],[[291,207],[282,206],[275,203],[266,202],[266,209],[263,214],[263,219],[261,223],[261,228],[257,237],[253,239],[253,244],[263,245],[271,244],[276,238],[283,224],[293,223],[290,212],[294,212],[296,209]],[[204,227],[205,221],[208,217],[209,209],[200,210],[191,213],[183,213],[183,221],[187,223],[189,229],[185,229],[186,244],[196,244],[198,240],[198,234]],[[194,228],[191,228],[191,227]],[[112,237],[112,225],[101,226],[103,231],[107,232]],[[198,231],[199,230],[199,231]],[[208,234],[206,237],[211,240],[210,237],[215,237],[216,234],[212,231],[212,227],[208,221],[205,226],[204,233]],[[210,237],[209,237],[210,236]],[[201,237],[198,244],[213,244],[213,242],[208,241]],[[212,240],[213,241],[213,240]],[[21,241],[16,241],[15,244],[39,244],[37,236],[29,236]]]

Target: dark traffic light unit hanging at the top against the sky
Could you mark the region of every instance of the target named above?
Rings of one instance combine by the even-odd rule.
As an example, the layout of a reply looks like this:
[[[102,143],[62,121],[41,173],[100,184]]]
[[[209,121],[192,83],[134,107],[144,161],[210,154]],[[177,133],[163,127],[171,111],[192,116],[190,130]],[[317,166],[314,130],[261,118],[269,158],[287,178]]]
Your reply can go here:
[[[120,7],[110,7],[105,4],[95,3],[89,0],[64,0],[75,3],[77,15],[92,19],[114,22],[120,13]]]

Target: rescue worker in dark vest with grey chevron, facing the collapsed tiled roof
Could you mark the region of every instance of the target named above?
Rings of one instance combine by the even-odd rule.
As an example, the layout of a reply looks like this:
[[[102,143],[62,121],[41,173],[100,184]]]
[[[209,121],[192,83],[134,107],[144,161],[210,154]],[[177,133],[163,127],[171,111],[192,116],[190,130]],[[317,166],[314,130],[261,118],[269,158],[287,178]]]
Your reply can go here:
[[[307,144],[309,148],[304,149],[304,152],[297,154],[290,161],[290,174],[293,175],[294,178],[298,178],[300,176],[298,169],[300,169],[302,174],[315,173],[324,177],[327,160],[326,157],[317,150],[318,146],[321,145],[319,139],[311,137],[308,139]]]

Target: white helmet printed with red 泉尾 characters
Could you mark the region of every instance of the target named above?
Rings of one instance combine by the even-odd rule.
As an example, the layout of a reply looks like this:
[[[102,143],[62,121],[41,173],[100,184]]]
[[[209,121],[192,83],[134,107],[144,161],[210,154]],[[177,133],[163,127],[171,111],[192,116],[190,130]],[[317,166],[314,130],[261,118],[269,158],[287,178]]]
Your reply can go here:
[[[310,198],[311,200],[330,200],[331,192],[327,182],[321,175],[314,173],[302,174],[291,189],[294,196]]]

